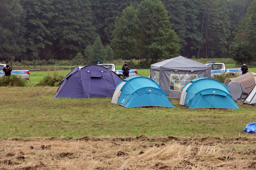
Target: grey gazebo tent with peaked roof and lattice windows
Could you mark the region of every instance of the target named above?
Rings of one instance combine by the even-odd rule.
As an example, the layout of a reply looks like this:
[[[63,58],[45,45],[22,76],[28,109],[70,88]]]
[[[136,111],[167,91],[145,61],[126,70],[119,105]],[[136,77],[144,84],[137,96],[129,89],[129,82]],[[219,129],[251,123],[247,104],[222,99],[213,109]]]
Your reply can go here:
[[[155,80],[169,98],[180,99],[186,83],[196,78],[211,78],[211,67],[178,56],[152,64],[149,78]]]

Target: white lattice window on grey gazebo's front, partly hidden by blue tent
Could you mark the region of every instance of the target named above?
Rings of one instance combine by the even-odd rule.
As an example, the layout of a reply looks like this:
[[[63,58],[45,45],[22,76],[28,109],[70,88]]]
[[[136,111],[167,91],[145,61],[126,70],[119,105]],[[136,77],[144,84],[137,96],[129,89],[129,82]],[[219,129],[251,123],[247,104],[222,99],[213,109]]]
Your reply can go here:
[[[170,75],[170,90],[181,92],[181,89],[191,80],[198,78],[197,74],[171,74]]]

